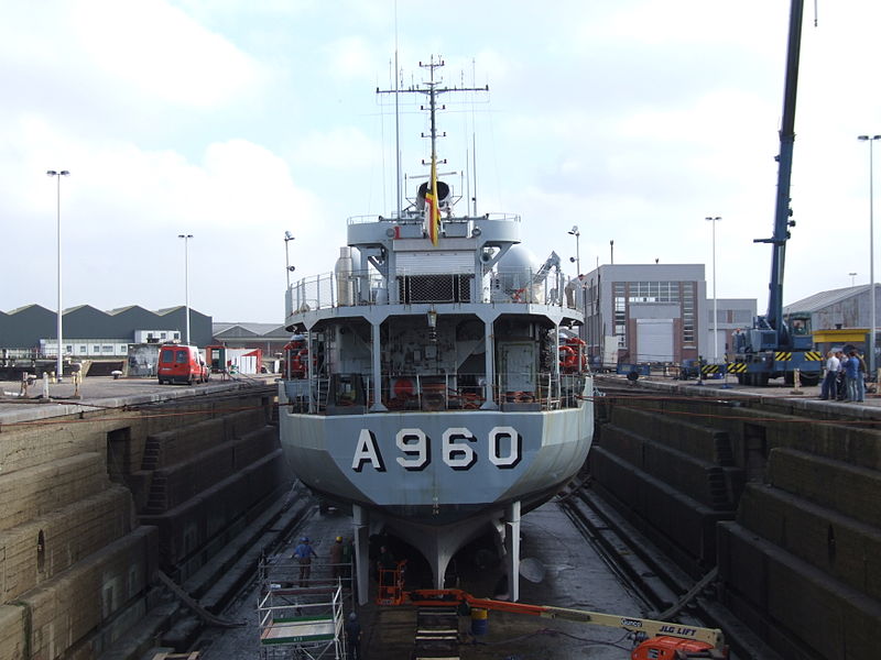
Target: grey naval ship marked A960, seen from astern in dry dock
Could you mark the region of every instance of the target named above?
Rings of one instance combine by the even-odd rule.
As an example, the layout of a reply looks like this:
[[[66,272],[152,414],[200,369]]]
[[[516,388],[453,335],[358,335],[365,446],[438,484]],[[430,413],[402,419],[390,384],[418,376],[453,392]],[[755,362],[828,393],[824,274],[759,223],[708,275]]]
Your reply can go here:
[[[446,90],[426,90],[434,139]],[[334,272],[285,296],[282,446],[301,481],[351,507],[361,598],[370,535],[416,548],[443,587],[455,552],[491,531],[516,600],[520,516],[590,449],[577,278],[519,245],[520,217],[457,216],[454,201],[433,143],[411,206],[349,219]]]

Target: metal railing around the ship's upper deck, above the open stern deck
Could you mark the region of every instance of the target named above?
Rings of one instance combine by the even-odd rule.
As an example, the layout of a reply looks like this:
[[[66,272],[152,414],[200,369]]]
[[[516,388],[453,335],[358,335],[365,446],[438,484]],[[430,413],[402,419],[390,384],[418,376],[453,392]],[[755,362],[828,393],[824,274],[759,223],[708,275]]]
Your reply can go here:
[[[472,272],[421,274],[399,273],[396,287],[389,290],[376,271],[324,273],[291,285],[287,316],[318,309],[361,305],[500,302],[523,305],[570,305],[572,282],[563,272],[535,268],[491,273],[475,286]],[[568,283],[568,284],[567,284]],[[567,288],[568,287],[568,288]]]

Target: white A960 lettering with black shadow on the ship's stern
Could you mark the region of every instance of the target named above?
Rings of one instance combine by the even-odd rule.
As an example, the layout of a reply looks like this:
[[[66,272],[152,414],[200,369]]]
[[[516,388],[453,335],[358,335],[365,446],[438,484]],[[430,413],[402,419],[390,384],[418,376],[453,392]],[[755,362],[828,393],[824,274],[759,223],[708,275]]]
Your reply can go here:
[[[404,470],[420,472],[432,463],[432,438],[422,429],[401,429],[394,437],[394,444],[401,453],[395,460]],[[465,427],[445,430],[439,444],[437,458],[452,470],[470,470],[481,460],[478,438]],[[487,435],[485,447],[483,458],[499,470],[511,470],[523,458],[523,438],[513,427],[493,427]],[[358,435],[351,461],[355,472],[361,472],[365,466],[385,472],[379,442],[369,429],[361,429]]]

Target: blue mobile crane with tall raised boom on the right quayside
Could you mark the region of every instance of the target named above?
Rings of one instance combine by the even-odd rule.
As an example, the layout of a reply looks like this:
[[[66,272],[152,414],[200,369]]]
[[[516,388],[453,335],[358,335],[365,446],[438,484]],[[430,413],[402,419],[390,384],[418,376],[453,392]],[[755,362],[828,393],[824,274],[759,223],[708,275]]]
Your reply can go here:
[[[733,356],[728,373],[736,374],[741,385],[768,385],[769,378],[783,376],[794,382],[796,370],[801,382],[816,385],[823,371],[822,355],[814,350],[809,323],[801,320],[790,328],[783,319],[783,266],[791,219],[790,180],[792,178],[793,143],[795,142],[795,97],[798,84],[798,55],[802,41],[803,0],[793,0],[790,10],[790,37],[786,52],[786,85],[783,95],[783,122],[780,129],[777,161],[777,198],[774,213],[774,234],[755,239],[754,243],[771,243],[771,282],[768,314],[753,319],[752,328],[733,336]]]

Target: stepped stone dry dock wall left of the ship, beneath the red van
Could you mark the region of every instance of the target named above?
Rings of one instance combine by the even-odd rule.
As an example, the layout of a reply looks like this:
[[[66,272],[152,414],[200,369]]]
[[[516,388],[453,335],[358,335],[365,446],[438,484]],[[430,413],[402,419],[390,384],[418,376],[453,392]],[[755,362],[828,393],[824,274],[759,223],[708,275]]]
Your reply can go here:
[[[272,404],[0,418],[0,660],[100,657],[157,602],[157,568],[185,576],[262,513],[290,481]]]

